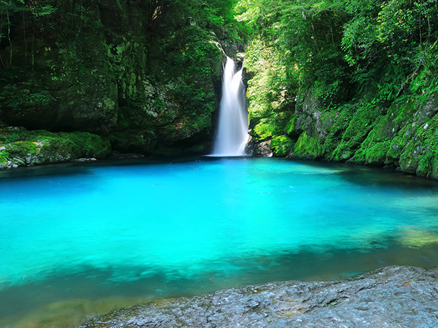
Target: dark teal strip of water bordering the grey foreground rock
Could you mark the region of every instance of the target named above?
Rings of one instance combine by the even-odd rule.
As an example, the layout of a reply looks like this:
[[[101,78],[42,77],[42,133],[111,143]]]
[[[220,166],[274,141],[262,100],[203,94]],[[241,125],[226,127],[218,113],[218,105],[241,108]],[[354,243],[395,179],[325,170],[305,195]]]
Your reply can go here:
[[[215,261],[216,262],[216,261]],[[216,263],[186,276],[181,272],[156,268],[81,268],[77,272],[53,272],[47,279],[0,290],[1,318],[24,315],[54,302],[66,300],[99,300],[106,297],[161,299],[213,293],[223,288],[270,281],[330,281],[345,279],[387,265],[435,266],[438,264],[436,243],[409,247],[397,240],[374,242],[368,249],[325,249],[315,252],[284,251],[279,254],[249,258],[217,259],[226,263],[218,270]],[[114,270],[130,272],[131,279],[115,280]],[[148,272],[145,274],[145,272]]]

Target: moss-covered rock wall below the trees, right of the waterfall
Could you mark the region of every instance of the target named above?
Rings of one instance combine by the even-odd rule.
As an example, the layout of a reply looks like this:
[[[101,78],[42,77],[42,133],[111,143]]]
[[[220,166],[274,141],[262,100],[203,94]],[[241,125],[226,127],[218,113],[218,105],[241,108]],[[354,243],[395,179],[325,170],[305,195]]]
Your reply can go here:
[[[289,147],[282,154],[394,167],[438,179],[437,113],[435,97],[424,104],[408,100],[389,108],[370,104],[337,110],[320,110],[307,99],[295,110],[287,131]],[[275,154],[279,154],[277,139],[273,140]]]

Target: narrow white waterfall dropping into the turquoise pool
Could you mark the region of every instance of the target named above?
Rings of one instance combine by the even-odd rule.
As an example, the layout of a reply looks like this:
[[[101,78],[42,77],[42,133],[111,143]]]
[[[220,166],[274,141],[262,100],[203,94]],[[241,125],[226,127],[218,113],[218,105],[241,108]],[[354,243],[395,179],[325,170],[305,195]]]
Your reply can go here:
[[[213,147],[213,156],[245,155],[248,142],[248,110],[242,68],[235,72],[234,61],[227,57],[222,81],[222,99],[219,108],[219,124]]]

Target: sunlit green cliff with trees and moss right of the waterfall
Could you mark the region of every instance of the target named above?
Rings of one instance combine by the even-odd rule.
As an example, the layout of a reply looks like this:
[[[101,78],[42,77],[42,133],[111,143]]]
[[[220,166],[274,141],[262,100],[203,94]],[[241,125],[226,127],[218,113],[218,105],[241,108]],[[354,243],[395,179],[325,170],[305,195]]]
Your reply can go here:
[[[256,154],[438,179],[432,1],[241,1]],[[269,153],[269,151],[264,151]]]

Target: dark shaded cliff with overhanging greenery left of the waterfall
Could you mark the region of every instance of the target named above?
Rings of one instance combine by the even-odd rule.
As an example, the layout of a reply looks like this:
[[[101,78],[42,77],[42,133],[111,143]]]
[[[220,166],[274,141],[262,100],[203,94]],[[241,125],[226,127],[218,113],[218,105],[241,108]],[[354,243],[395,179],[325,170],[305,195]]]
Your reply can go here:
[[[2,1],[0,165],[39,163],[13,148],[76,132],[106,150],[73,158],[206,151],[224,48],[241,40],[231,1],[186,2]]]

